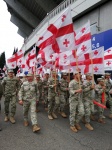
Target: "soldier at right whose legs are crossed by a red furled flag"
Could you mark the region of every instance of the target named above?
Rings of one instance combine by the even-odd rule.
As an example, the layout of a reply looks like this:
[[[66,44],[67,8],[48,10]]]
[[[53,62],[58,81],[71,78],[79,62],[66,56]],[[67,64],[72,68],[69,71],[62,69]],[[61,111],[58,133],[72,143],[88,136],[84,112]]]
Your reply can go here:
[[[95,98],[96,98],[96,101],[98,101],[99,103],[102,103],[102,94],[103,92],[105,92],[105,84],[102,78],[98,78],[97,81],[98,81],[98,84],[95,85]],[[98,108],[98,113],[99,113],[98,122],[105,123],[104,117],[103,117],[104,109],[101,107],[97,107],[97,108]]]

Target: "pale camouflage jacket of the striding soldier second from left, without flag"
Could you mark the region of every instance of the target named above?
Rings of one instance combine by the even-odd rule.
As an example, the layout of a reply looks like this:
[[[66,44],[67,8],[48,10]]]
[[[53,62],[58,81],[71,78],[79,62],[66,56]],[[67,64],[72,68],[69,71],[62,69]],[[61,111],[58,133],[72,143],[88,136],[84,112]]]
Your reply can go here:
[[[24,82],[19,91],[19,100],[30,101],[37,99],[39,99],[39,90],[35,82]]]

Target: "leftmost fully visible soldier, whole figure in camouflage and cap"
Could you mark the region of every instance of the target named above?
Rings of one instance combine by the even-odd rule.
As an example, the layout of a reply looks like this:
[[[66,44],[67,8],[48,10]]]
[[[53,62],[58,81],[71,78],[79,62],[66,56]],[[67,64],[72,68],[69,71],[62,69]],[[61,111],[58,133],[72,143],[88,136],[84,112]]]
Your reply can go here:
[[[13,70],[8,70],[8,77],[5,77],[2,81],[3,91],[5,96],[4,107],[5,107],[5,119],[7,122],[9,120],[9,104],[11,104],[10,122],[15,123],[15,113],[16,113],[16,97],[19,91],[19,81],[14,77]]]

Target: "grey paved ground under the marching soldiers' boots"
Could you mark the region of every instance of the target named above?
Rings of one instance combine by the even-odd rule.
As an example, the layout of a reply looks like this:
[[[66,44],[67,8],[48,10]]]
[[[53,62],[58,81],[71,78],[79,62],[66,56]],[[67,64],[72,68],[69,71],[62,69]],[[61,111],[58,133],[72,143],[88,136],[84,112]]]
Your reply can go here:
[[[108,118],[105,125],[92,122],[94,131],[88,131],[81,123],[82,131],[73,133],[68,118],[59,116],[50,121],[41,107],[38,113],[41,131],[33,133],[31,123],[23,126],[22,106],[17,104],[16,124],[3,121],[3,107],[2,102],[0,150],[112,150],[112,120]]]

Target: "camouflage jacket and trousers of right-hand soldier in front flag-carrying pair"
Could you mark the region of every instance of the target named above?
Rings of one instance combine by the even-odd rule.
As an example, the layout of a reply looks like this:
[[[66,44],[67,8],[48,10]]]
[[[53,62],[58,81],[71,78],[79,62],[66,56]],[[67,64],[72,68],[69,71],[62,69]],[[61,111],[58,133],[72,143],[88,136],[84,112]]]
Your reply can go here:
[[[85,121],[87,123],[90,123],[90,115],[91,111],[93,111],[93,102],[92,102],[92,89],[91,89],[92,83],[91,81],[85,80],[83,82],[83,104],[84,104],[84,111],[85,111]],[[92,108],[92,109],[91,109]]]

